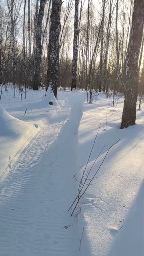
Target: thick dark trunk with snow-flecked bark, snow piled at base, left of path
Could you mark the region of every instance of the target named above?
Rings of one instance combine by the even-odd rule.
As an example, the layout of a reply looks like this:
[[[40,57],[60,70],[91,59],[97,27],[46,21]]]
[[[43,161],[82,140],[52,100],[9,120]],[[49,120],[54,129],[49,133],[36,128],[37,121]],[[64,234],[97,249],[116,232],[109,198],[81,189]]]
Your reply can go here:
[[[59,36],[60,36],[60,12],[62,0],[52,1],[52,12],[50,17],[50,36],[48,43],[48,72],[47,86],[51,86],[54,96],[57,97],[58,87],[58,64],[59,64]]]

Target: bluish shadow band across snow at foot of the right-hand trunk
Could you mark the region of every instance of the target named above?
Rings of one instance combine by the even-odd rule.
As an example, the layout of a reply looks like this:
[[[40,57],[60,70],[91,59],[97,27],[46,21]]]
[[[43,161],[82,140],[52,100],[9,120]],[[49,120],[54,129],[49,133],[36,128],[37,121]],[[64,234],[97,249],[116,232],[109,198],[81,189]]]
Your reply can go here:
[[[111,158],[114,158],[114,155],[118,154],[122,148],[130,148],[129,146],[132,143],[135,143],[136,145],[138,143],[138,134],[143,134],[144,131],[144,126],[142,124],[136,124],[135,126],[131,126],[125,129],[119,129],[118,126],[116,127],[116,124],[113,123],[109,124],[109,126],[111,126],[110,130],[105,130],[98,134],[93,152],[90,157],[90,162],[96,159],[104,145],[106,146],[102,151],[102,154],[106,153],[108,148],[120,138],[120,141],[109,152],[108,159],[111,160]],[[85,142],[79,142],[80,159],[82,159],[80,165],[86,165],[93,142],[94,137],[90,140],[88,139]],[[97,164],[98,163],[99,161],[97,161]]]

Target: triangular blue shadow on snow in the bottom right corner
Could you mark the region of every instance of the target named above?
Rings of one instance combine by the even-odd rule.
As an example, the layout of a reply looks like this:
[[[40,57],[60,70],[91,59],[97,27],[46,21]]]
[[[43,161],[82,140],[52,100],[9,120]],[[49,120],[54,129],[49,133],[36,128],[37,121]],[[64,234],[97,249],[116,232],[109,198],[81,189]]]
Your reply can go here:
[[[113,243],[106,256],[143,256],[144,255],[144,182],[124,225],[120,230],[111,229]]]

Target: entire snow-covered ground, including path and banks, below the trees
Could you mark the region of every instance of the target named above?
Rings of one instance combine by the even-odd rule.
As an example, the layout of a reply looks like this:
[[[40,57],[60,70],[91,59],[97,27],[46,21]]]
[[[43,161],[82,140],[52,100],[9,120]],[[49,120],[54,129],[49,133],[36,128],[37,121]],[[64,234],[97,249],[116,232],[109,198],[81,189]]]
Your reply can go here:
[[[93,104],[85,92],[58,92],[54,106],[50,97],[28,91],[19,102],[10,90],[0,101],[0,256],[143,256],[143,110],[121,130],[123,98],[112,107],[103,94]],[[72,177],[80,180],[99,126],[88,170],[106,146],[92,174],[120,140],[70,217]]]

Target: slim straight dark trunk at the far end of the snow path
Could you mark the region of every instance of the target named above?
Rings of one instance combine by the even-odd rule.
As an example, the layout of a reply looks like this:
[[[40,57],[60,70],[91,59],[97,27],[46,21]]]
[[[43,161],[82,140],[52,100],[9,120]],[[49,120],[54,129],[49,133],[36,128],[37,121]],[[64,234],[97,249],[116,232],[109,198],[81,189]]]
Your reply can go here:
[[[73,41],[73,59],[72,59],[72,86],[76,89],[76,77],[77,77],[77,61],[78,61],[78,3],[79,0],[75,0],[75,12],[74,12],[74,41]]]

